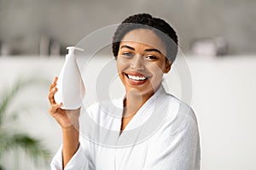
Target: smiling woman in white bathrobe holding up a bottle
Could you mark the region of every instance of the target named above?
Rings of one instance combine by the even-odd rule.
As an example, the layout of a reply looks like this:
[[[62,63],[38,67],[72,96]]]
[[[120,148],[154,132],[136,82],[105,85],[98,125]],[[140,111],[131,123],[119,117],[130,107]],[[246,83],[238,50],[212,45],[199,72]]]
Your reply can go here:
[[[51,168],[200,169],[195,114],[189,105],[166,94],[161,85],[177,55],[176,32],[166,21],[149,14],[132,15],[114,33],[113,55],[125,97],[111,102],[122,110],[116,110],[111,102],[105,106],[96,103],[86,111],[90,115],[86,120],[91,118],[118,133],[106,133],[79,120],[80,109],[61,110],[54,99],[55,78],[49,89],[49,113],[61,126],[63,145]],[[82,133],[84,128],[90,129],[87,135]],[[92,136],[97,136],[98,142],[90,140]],[[99,142],[108,139],[111,144]]]

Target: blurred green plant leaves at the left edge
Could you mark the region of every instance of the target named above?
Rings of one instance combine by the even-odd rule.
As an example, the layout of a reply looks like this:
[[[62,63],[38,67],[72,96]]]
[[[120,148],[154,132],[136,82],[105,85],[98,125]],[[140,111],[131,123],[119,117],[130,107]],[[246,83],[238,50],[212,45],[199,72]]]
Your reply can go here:
[[[41,144],[39,139],[32,137],[28,133],[14,130],[7,125],[9,122],[16,122],[18,114],[21,114],[20,108],[15,111],[9,109],[15,97],[24,88],[38,82],[41,83],[42,81],[34,78],[26,81],[17,81],[11,88],[0,93],[0,170],[8,168],[4,167],[2,160],[6,154],[13,150],[24,151],[36,166],[49,160],[49,150]]]

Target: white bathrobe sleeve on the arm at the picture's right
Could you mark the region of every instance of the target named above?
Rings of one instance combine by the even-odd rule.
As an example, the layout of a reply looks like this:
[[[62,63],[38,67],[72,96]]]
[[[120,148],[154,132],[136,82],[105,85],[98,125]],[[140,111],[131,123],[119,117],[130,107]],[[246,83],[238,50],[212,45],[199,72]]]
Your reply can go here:
[[[183,120],[183,121],[181,121]],[[194,112],[161,127],[151,142],[143,170],[199,170],[200,141]]]

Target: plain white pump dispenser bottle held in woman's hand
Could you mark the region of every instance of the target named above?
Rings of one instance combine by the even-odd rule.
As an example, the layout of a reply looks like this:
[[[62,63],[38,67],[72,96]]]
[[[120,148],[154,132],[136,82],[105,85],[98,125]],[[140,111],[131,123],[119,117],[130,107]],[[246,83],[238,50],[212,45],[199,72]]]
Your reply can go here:
[[[84,99],[84,82],[79,71],[74,50],[84,51],[82,48],[67,47],[65,63],[58,77],[55,94],[55,102],[62,103],[61,109],[76,110],[81,107]]]

